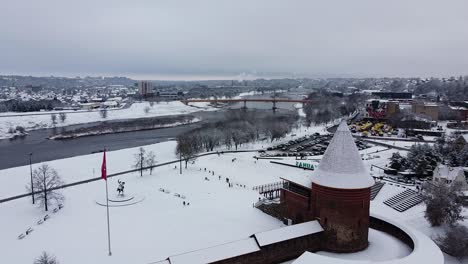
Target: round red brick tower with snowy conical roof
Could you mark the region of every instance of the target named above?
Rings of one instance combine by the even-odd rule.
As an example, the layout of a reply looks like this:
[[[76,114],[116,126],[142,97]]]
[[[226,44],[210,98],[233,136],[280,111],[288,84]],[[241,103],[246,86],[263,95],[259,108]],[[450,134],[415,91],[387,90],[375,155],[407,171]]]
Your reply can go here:
[[[374,180],[342,122],[312,177],[311,207],[324,229],[323,250],[356,252],[367,247],[372,185]]]

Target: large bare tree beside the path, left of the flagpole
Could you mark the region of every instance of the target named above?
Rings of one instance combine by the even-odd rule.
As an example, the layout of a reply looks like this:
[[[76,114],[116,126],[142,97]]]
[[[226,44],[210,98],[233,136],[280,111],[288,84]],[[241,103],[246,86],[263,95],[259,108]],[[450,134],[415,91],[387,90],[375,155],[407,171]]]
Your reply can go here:
[[[56,204],[63,202],[64,197],[54,188],[63,185],[63,181],[57,171],[48,164],[42,164],[39,168],[33,171],[33,187],[31,184],[26,186],[28,192],[36,192],[36,199],[40,201],[41,206],[44,205],[48,211],[48,206],[54,201]]]

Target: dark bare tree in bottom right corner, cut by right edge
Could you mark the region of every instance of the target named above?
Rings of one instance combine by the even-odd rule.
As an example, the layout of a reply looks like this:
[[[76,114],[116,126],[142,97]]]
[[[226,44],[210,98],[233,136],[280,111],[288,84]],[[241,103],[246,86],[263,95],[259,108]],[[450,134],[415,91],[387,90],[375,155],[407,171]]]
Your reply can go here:
[[[450,227],[436,242],[440,249],[449,255],[457,258],[468,257],[468,228],[465,226]]]

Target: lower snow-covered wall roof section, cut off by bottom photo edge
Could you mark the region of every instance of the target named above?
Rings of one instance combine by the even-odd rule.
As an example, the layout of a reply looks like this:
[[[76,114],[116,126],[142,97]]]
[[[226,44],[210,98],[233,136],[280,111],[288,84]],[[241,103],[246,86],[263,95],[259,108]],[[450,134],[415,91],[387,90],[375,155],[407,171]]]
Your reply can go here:
[[[181,255],[169,257],[171,264],[205,264],[233,258],[259,251],[254,238],[239,240],[219,246],[196,250]]]

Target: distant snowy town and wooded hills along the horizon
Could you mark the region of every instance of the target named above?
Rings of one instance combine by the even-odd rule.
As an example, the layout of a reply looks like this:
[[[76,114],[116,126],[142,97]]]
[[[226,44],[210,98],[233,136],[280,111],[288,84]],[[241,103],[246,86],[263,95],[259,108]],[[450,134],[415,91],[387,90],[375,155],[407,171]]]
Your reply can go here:
[[[325,90],[336,95],[372,96],[374,114],[395,103],[433,120],[468,115],[468,77],[330,78],[226,81],[137,81],[125,77],[0,76],[0,112],[89,110],[122,107],[135,100],[234,97],[242,92],[286,90],[308,94]],[[28,103],[25,103],[28,102]],[[370,113],[372,114],[372,113]]]

